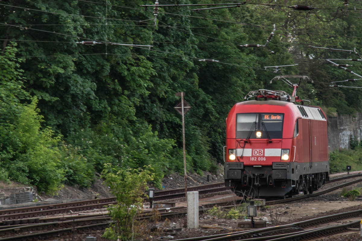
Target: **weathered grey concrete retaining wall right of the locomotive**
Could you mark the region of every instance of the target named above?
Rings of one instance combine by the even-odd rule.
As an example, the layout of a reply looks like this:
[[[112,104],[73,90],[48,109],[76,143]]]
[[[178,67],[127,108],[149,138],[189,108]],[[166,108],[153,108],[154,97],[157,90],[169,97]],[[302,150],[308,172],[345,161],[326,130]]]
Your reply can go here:
[[[355,117],[342,115],[328,117],[328,122],[328,143],[331,151],[349,149],[351,135],[354,135],[358,141],[362,140],[362,113],[356,113]]]

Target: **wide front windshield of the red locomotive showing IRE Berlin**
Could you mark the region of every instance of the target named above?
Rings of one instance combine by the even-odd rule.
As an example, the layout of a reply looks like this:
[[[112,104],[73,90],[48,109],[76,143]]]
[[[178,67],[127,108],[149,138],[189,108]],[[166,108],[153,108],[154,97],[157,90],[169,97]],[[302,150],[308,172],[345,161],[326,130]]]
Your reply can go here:
[[[237,139],[281,139],[283,136],[284,114],[245,113],[237,114]]]

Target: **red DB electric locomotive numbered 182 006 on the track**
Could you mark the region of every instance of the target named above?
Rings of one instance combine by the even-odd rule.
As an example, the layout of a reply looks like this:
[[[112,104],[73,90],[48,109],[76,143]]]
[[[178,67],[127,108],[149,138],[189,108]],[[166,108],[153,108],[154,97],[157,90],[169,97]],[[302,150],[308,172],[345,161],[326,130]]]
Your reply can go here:
[[[226,120],[225,186],[239,196],[291,197],[329,180],[328,121],[284,91],[251,91]],[[301,103],[296,104],[296,103]]]

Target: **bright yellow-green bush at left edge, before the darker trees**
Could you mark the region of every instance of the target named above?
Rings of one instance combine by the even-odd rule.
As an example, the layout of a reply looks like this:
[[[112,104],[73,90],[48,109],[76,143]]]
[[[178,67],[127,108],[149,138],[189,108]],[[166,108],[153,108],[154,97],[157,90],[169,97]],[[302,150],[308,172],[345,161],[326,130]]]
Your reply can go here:
[[[7,47],[0,56],[0,180],[36,185],[47,193],[56,192],[65,180],[89,186],[93,166],[75,151],[70,153],[50,127],[42,128],[38,98],[22,89],[24,78],[15,53],[15,48]]]

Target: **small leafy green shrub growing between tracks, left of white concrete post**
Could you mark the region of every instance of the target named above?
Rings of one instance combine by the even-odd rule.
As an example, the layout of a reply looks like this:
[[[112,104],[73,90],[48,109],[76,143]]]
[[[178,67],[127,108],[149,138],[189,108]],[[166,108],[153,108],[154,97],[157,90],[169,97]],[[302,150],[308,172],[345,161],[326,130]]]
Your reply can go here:
[[[130,240],[137,238],[135,226],[137,215],[143,210],[144,191],[148,190],[147,182],[155,177],[150,166],[145,169],[119,169],[107,163],[104,165],[102,178],[116,197],[117,204],[110,205],[107,210],[113,223],[106,229],[102,237],[113,240]]]

